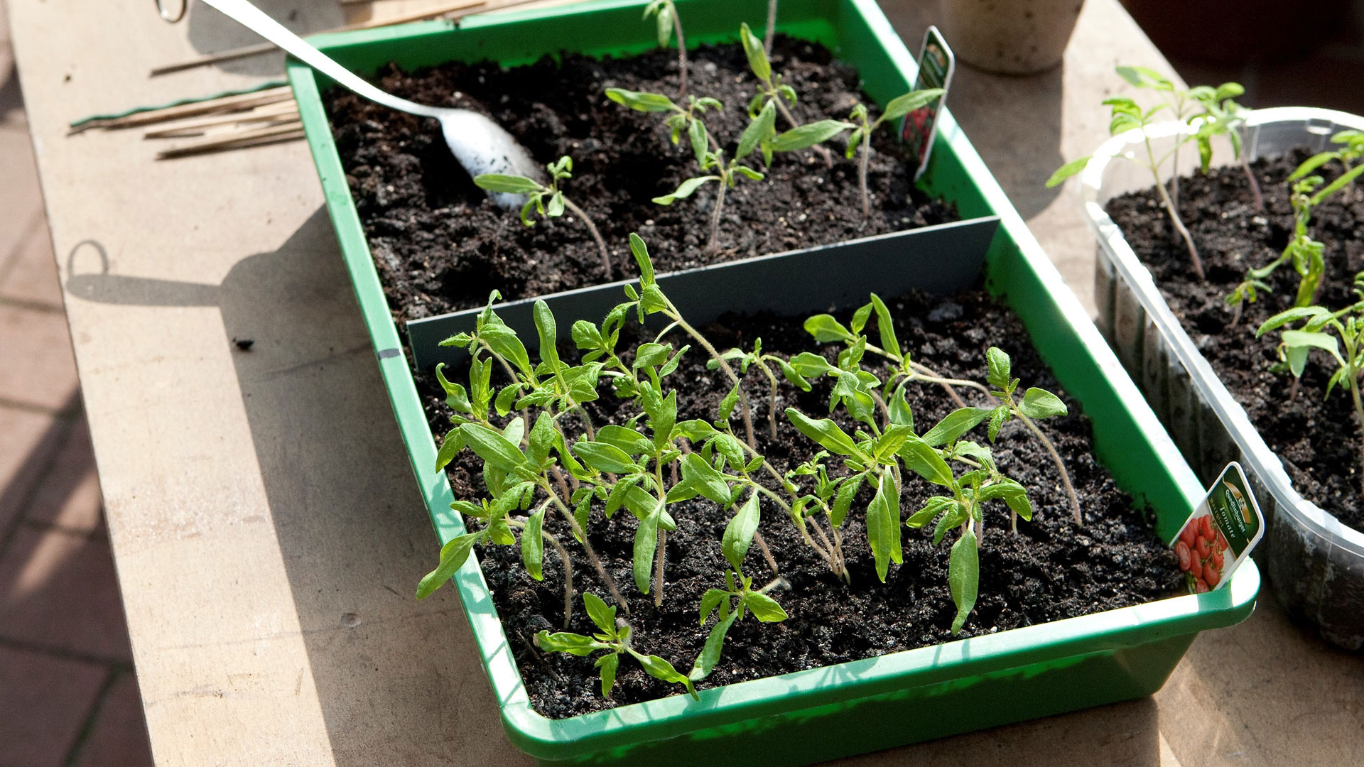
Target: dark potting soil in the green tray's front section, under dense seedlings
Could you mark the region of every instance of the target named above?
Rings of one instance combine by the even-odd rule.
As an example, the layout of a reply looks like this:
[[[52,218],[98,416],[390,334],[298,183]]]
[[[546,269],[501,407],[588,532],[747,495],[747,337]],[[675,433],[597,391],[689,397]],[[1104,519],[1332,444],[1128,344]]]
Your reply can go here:
[[[1013,374],[1022,378],[1023,386],[1035,385],[1056,392],[1071,411],[1071,415],[1042,422],[1042,429],[1064,456],[1084,510],[1084,525],[1076,528],[1060,474],[1045,448],[1016,420],[1007,424],[993,446],[994,456],[1001,471],[1028,489],[1035,516],[1031,523],[1019,520],[1018,534],[1012,534],[1008,510],[1001,504],[988,505],[979,600],[960,637],[1125,607],[1180,592],[1183,580],[1174,555],[1155,536],[1143,513],[1132,506],[1131,498],[1114,487],[1108,469],[1095,464],[1088,419],[1057,388],[1009,310],[990,303],[983,291],[968,291],[951,300],[914,293],[892,300],[891,307],[900,318],[896,332],[902,344],[919,362],[947,375],[983,381],[985,349],[997,345],[1012,356]],[[783,355],[817,349],[798,319],[728,317],[702,332],[719,349],[752,347],[756,337],[762,338],[764,351]],[[831,360],[836,353],[833,347],[821,351]],[[567,359],[570,353],[574,353],[572,344],[561,344],[561,355]],[[678,389],[678,418],[715,418],[715,408],[728,390],[722,375],[705,368],[702,355],[690,352],[683,358],[678,371],[666,379],[666,385]],[[777,414],[790,405],[812,416],[824,416],[831,392],[828,381],[816,382],[810,393],[783,382],[776,397]],[[432,430],[443,434],[449,429],[443,393],[432,375],[420,375],[419,388]],[[749,371],[745,388],[753,404],[758,450],[780,472],[807,460],[814,453],[813,442],[790,426],[784,416],[779,415],[777,435],[772,438],[768,386],[756,367]],[[968,393],[963,396],[967,401],[978,399]],[[955,408],[938,386],[911,389],[910,401],[919,431]],[[600,405],[593,414],[597,426],[619,423],[634,415],[610,394],[603,394],[595,404]],[[737,424],[738,420],[735,416]],[[850,433],[855,429],[846,418],[842,426]],[[742,431],[742,426],[738,429]],[[985,429],[978,427],[977,431],[979,434],[974,438],[985,444]],[[829,465],[833,469],[836,464],[829,461]],[[835,475],[844,472],[842,465],[833,469]],[[480,495],[481,463],[469,450],[460,453],[447,474],[456,497]],[[904,484],[900,505],[907,517],[923,505],[934,487],[918,478]],[[701,689],[955,639],[949,632],[956,610],[948,592],[947,562],[956,532],[951,532],[940,546],[933,546],[932,531],[902,528],[904,564],[892,564],[883,584],[876,576],[863,524],[863,510],[872,494],[872,489],[863,486],[842,527],[851,585],[837,580],[801,542],[780,509],[762,502],[760,531],[782,568],[782,576],[790,583],[788,590],[772,594],[790,618],[780,624],[758,624],[752,617],[737,622],[728,633],[720,663],[708,680],[698,684]],[[608,521],[597,506],[588,535],[630,605],[632,613],[626,620],[633,628],[634,647],[645,654],[662,655],[686,673],[711,628],[709,622],[705,626],[697,622],[701,594],[723,587],[727,565],[720,553],[720,539],[728,515],[704,500],[672,505],[670,513],[678,530],[667,536],[667,583],[662,607],[655,607],[652,596],[634,588],[630,564],[636,519],[630,513],[619,512]],[[572,539],[567,524],[548,515],[546,530],[559,536],[573,560],[577,592],[567,631],[592,633],[592,624],[581,606],[581,591],[607,600],[610,595]],[[592,658],[544,654],[532,646],[532,637],[542,629],[563,631],[563,569],[559,557],[547,550],[544,580],[537,583],[527,575],[518,546],[483,546],[477,554],[537,711],[562,718],[679,692],[677,685],[653,680],[632,659],[625,659],[612,696],[602,697]],[[757,546],[750,549],[745,570],[754,584],[772,579]]]

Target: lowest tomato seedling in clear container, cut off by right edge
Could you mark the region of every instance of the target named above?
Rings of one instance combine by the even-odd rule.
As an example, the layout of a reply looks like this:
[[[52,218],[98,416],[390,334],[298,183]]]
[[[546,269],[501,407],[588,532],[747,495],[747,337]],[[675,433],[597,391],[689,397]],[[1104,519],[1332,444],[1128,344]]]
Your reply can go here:
[[[1266,319],[1255,330],[1255,337],[1282,329],[1279,359],[1288,364],[1296,379],[1301,379],[1312,349],[1329,353],[1335,362],[1335,371],[1326,385],[1326,396],[1330,397],[1337,386],[1349,389],[1356,426],[1360,438],[1364,439],[1364,401],[1360,399],[1360,373],[1364,370],[1364,272],[1354,276],[1354,295],[1359,300],[1338,311],[1320,306],[1281,311]],[[1303,325],[1290,328],[1294,322]],[[1359,452],[1357,460],[1361,461],[1360,476],[1364,478],[1364,450]]]

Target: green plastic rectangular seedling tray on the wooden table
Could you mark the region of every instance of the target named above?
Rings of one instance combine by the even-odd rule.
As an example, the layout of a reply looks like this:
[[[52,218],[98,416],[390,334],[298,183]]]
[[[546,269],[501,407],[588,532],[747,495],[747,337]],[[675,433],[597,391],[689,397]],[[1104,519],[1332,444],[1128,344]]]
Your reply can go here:
[[[471,16],[457,30],[439,23],[367,30],[322,38],[319,46],[361,72],[391,60],[404,67],[460,57],[516,64],[565,45],[593,55],[640,52],[656,45],[652,29],[640,22],[642,5],[603,1]],[[697,19],[689,41],[732,40],[741,20],[761,23],[767,12],[767,4],[760,1],[693,0],[679,7],[683,14],[690,8]],[[780,25],[782,31],[821,41],[854,64],[866,90],[878,100],[904,93],[914,79],[911,55],[869,0],[790,0],[782,5]],[[462,521],[449,508],[454,497],[445,474],[434,469],[435,438],[355,214],[322,108],[321,83],[311,70],[297,64],[291,66],[289,76],[413,472],[439,539],[449,540],[464,532]],[[967,220],[1000,218],[983,254],[951,257],[960,262],[953,263],[952,273],[975,283],[983,269],[986,288],[1018,313],[1038,353],[1091,419],[1098,460],[1123,490],[1151,509],[1157,532],[1172,538],[1203,489],[951,115],[944,112],[941,120],[925,187],[953,202]],[[813,287],[814,298],[792,298],[783,313],[803,317],[854,307],[836,296],[835,306],[814,303],[825,302],[829,296],[821,291],[831,287],[861,303],[868,292],[885,291],[891,283],[922,285],[925,277],[941,273],[948,259],[918,250],[913,240],[898,240],[895,248],[876,258],[876,269],[855,273],[839,269],[853,266],[851,259],[836,258],[835,248],[822,251],[820,270],[790,287]],[[752,261],[765,262],[777,274],[798,273],[787,258]],[[713,278],[709,289],[705,280],[689,278],[697,280],[700,292],[717,292],[731,281],[727,270],[742,267],[754,266],[734,262],[704,267],[701,272]],[[619,295],[619,289],[604,285],[584,291]],[[546,300],[554,307],[561,299]],[[749,310],[743,304],[716,308]],[[572,319],[572,314],[559,314],[561,328]],[[672,696],[567,719],[548,719],[531,707],[476,561],[465,564],[454,585],[507,736],[542,763],[682,764],[705,759],[805,764],[1150,695],[1165,682],[1199,631],[1249,616],[1259,570],[1248,564],[1210,594],[713,688],[704,691],[700,701]],[[933,717],[922,717],[925,706],[933,708]]]

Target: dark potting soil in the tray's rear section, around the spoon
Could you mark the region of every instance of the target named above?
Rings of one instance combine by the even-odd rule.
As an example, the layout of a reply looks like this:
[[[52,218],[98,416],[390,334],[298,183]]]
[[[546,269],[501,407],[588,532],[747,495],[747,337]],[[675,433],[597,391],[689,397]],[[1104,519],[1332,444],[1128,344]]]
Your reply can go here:
[[[844,119],[854,101],[868,101],[857,71],[822,45],[777,35],[772,63],[799,93],[791,108],[798,120]],[[713,183],[670,207],[652,202],[700,175],[687,142],[670,142],[664,115],[634,112],[603,94],[607,87],[675,94],[677,67],[675,50],[604,60],[565,53],[559,61],[547,56],[510,70],[484,61],[409,74],[390,66],[379,85],[423,104],[490,115],[539,162],[572,156],[565,194],[600,228],[617,280],[634,276],[630,232],[652,246],[660,272],[671,272],[958,220],[953,206],[914,187],[913,164],[893,131],[883,128],[872,142],[869,220],[861,214],[857,165],[835,141],[832,168],[812,150],[777,156],[767,179],[728,190],[722,250],[707,252]],[[724,104],[719,115],[707,112],[705,123],[732,157],[757,85],[743,50],[737,44],[701,46],[689,53],[687,70],[687,93]],[[567,214],[525,227],[514,212],[492,205],[450,156],[435,120],[341,90],[330,91],[326,104],[398,322],[483,306],[494,288],[520,299],[608,281],[581,221]],[[777,127],[786,130],[780,119]]]

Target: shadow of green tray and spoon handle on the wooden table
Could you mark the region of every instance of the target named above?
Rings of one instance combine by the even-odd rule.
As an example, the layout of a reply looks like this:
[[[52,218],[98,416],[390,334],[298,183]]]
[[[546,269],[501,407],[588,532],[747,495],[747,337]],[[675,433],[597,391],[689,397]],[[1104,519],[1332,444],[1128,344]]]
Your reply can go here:
[[[528,764],[502,734],[454,591],[413,598],[436,539],[325,210],[221,285],[108,274],[87,255],[71,265],[68,291],[90,300],[221,307],[224,337],[205,344],[233,355],[337,763]],[[243,340],[250,351],[233,344]],[[1157,725],[1155,703],[1142,699],[855,762],[993,766],[1027,755],[1027,764],[1087,767],[1098,753],[1159,767]]]

